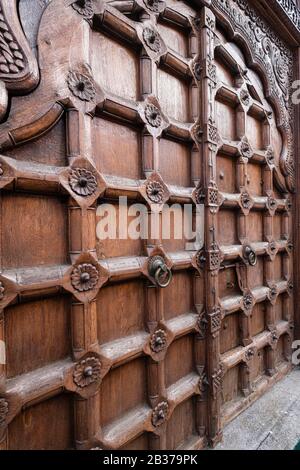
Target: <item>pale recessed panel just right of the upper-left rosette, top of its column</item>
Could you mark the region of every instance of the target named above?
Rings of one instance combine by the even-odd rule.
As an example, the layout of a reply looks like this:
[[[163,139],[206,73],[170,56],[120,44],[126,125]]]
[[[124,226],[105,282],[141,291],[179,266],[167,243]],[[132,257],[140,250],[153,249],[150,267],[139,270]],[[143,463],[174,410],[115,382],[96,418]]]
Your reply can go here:
[[[101,60],[99,60],[101,57]],[[92,33],[91,67],[95,80],[108,92],[138,100],[139,60],[134,50],[100,32]],[[112,78],[118,73],[118,79]]]

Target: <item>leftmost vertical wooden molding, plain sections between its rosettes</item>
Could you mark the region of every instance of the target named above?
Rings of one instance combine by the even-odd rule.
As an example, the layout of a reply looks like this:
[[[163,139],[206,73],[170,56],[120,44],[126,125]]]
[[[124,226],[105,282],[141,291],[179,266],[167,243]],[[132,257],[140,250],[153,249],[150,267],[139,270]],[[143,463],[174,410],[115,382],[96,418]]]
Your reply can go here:
[[[75,158],[91,158],[90,115],[70,109],[67,115],[67,154],[71,164]],[[74,263],[81,253],[96,258],[96,207],[79,207],[69,198],[69,254]],[[99,350],[96,300],[71,304],[72,348],[74,360]],[[74,398],[74,427],[77,449],[88,449],[100,432],[99,392],[92,397]]]

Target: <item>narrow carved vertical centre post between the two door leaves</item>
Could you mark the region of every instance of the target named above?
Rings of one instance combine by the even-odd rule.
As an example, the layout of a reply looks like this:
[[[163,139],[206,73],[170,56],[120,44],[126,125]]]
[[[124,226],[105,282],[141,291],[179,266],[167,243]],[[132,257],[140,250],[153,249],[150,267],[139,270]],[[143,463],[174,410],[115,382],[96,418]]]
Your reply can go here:
[[[217,245],[217,215],[212,209],[210,190],[216,190],[216,152],[217,142],[214,141],[212,130],[215,129],[215,83],[208,71],[214,67],[214,31],[216,19],[212,11],[204,7],[200,20],[200,61],[204,71],[200,84],[200,127],[203,130],[201,154],[203,159],[203,188],[205,200],[205,293],[206,312],[208,316],[207,333],[207,372],[210,385],[208,399],[208,439],[216,445],[222,437],[221,431],[221,389],[222,371],[220,369],[220,311]],[[213,318],[219,316],[217,328],[213,327]]]

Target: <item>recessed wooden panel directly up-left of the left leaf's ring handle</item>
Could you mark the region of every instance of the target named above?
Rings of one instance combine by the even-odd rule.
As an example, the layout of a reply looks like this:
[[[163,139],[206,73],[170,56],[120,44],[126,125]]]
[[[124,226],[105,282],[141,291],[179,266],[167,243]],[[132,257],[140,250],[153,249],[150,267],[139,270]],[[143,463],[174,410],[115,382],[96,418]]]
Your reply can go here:
[[[137,221],[140,212],[135,210],[137,208],[133,207],[132,203],[128,202],[128,205],[126,205],[126,201],[123,202],[101,201],[97,208],[96,250],[99,259],[116,256],[140,256],[142,254],[144,243],[142,238],[143,222],[140,224]],[[131,213],[130,208],[132,208]],[[141,214],[141,218],[144,220],[144,214]],[[146,214],[145,220],[146,226]]]

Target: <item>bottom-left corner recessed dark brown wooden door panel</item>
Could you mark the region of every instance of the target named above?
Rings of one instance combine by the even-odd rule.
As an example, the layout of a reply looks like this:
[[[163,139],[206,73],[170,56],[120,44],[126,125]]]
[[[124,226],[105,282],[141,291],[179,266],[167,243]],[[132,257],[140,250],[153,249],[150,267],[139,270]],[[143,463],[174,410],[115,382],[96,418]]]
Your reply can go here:
[[[72,449],[73,413],[71,395],[60,395],[27,408],[8,426],[9,448],[11,450]]]

